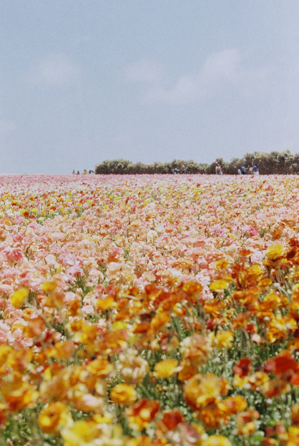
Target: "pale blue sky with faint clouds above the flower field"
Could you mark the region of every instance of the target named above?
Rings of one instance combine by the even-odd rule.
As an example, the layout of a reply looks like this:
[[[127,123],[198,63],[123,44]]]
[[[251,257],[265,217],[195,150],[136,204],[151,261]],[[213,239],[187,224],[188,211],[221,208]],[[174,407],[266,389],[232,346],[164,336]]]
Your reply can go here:
[[[1,0],[0,173],[299,152],[298,0]]]

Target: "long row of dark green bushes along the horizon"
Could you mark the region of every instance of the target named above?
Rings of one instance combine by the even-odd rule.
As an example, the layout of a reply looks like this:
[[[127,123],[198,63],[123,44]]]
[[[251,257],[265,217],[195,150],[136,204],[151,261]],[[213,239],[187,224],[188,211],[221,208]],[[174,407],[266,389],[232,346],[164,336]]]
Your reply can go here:
[[[246,153],[243,158],[233,158],[230,162],[217,158],[212,164],[196,163],[195,161],[173,160],[168,163],[143,164],[141,162],[132,163],[131,161],[118,159],[106,160],[96,165],[97,174],[141,174],[141,173],[216,173],[216,165],[221,165],[222,172],[236,174],[238,168],[244,165],[246,173],[249,173],[250,167],[258,165],[259,172],[263,175],[268,174],[299,174],[299,153],[292,155],[289,150],[284,152],[271,153]]]

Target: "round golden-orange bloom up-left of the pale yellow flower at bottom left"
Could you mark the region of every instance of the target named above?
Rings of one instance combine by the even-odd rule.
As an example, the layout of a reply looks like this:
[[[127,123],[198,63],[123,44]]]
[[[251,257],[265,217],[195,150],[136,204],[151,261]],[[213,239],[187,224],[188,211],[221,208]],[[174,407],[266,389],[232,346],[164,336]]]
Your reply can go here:
[[[71,419],[69,409],[58,401],[44,407],[38,415],[37,422],[46,434],[58,434],[58,430],[66,425],[68,419]]]

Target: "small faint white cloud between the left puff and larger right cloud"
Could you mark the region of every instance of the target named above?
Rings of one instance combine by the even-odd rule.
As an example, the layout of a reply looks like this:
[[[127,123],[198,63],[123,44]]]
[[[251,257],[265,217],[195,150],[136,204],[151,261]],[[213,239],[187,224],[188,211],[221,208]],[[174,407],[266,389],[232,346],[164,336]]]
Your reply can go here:
[[[125,68],[125,78],[131,82],[152,83],[162,76],[158,64],[149,59],[140,59]]]

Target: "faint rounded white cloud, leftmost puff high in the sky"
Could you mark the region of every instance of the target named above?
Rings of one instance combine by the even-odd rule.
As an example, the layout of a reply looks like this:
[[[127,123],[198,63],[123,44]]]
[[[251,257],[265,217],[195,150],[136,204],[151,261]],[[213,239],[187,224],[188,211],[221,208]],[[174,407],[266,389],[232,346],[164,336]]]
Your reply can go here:
[[[34,82],[61,87],[77,83],[80,70],[65,53],[52,53],[33,67],[30,76]]]

